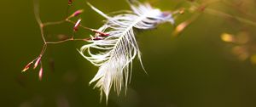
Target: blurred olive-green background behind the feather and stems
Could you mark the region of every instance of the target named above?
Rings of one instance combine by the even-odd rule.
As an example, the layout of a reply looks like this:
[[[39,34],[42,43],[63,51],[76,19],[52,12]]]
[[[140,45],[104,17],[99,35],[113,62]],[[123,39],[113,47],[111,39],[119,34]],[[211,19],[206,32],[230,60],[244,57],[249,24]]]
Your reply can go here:
[[[88,2],[105,13],[130,9],[125,0]],[[155,30],[137,33],[148,75],[138,61],[134,61],[127,95],[118,97],[112,92],[109,107],[256,106],[256,65],[252,49],[255,48],[253,43],[256,44],[255,0],[148,2],[162,10],[185,11],[177,15],[175,26],[163,24]],[[193,10],[195,3],[202,8]],[[38,69],[21,73],[43,47],[33,14],[33,1],[5,0],[1,4],[1,107],[106,106],[105,100],[99,103],[100,92],[88,85],[97,68],[76,50],[87,42],[49,45],[43,58],[42,81],[38,81]],[[40,0],[39,4],[43,22],[62,20],[67,14],[67,0]],[[84,0],[75,0],[69,14],[79,8],[84,8],[82,25],[98,28],[103,24],[104,19]],[[207,8],[218,10],[218,13],[204,11]],[[189,20],[195,15],[193,21]],[[174,36],[176,26],[188,20],[189,25]],[[56,41],[59,34],[71,35],[72,28],[70,24],[51,25],[45,28],[46,38]],[[230,37],[246,35],[247,41],[237,43],[241,38],[238,36],[235,43],[225,42],[221,39],[224,33]],[[89,37],[90,34],[93,33],[79,30],[75,37]]]

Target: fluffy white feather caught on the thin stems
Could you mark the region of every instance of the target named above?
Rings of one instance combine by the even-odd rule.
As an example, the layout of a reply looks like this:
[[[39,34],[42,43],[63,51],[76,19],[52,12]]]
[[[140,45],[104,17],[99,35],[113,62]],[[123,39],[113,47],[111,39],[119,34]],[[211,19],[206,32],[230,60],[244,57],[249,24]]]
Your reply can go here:
[[[92,38],[89,41],[90,44],[80,48],[79,53],[93,65],[99,66],[90,84],[96,82],[95,87],[100,88],[101,97],[105,93],[107,101],[112,86],[118,94],[122,87],[125,87],[126,91],[131,79],[132,60],[137,56],[142,64],[134,28],[148,30],[162,22],[173,23],[172,14],[152,8],[148,3],[132,2],[130,4],[133,12],[116,14],[112,17],[89,4],[98,14],[107,19],[105,25],[102,25],[98,31],[108,33],[109,36],[101,37],[100,40]],[[100,35],[96,34],[95,37]],[[98,53],[93,53],[91,49]]]

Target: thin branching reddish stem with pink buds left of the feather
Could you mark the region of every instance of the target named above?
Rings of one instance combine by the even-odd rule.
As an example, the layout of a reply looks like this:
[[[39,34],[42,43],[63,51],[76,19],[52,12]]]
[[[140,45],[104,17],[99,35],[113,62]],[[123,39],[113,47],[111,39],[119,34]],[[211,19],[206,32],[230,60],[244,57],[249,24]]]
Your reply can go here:
[[[72,1],[69,1],[69,3],[71,3],[71,2],[72,2]],[[40,35],[41,35],[41,37],[42,37],[42,39],[43,39],[44,46],[43,46],[43,48],[42,48],[40,54],[38,55],[38,57],[37,57],[36,59],[33,59],[30,63],[28,63],[28,64],[25,66],[25,68],[22,70],[22,72],[28,70],[28,69],[31,67],[32,64],[34,64],[34,69],[35,69],[35,68],[38,66],[38,63],[40,63],[40,64],[41,64],[41,68],[40,68],[40,71],[39,71],[39,78],[42,78],[42,74],[40,74],[40,73],[43,72],[43,65],[42,65],[41,59],[42,59],[42,57],[44,56],[44,53],[45,53],[45,51],[46,51],[46,49],[47,49],[47,47],[48,47],[48,44],[59,44],[59,43],[62,43],[62,42],[69,42],[69,41],[89,41],[89,40],[93,39],[93,38],[91,38],[91,37],[90,37],[90,38],[82,38],[82,39],[81,39],[81,38],[74,38],[74,34],[75,34],[75,32],[77,31],[78,26],[81,27],[81,28],[83,28],[83,29],[85,29],[85,30],[90,30],[90,31],[93,31],[93,32],[95,32],[95,33],[98,33],[98,34],[100,34],[101,36],[106,36],[106,35],[108,35],[108,34],[103,33],[103,32],[101,32],[101,31],[96,31],[95,29],[92,29],[92,28],[86,27],[86,26],[84,26],[84,25],[78,24],[78,25],[76,26],[76,30],[73,30],[73,35],[72,35],[72,37],[67,38],[67,39],[65,39],[65,40],[61,40],[61,41],[48,42],[48,41],[45,39],[45,35],[44,35],[44,27],[45,27],[45,26],[48,26],[48,25],[60,25],[60,24],[62,24],[62,23],[64,23],[64,22],[68,22],[68,23],[72,23],[73,25],[76,25],[76,23],[73,22],[73,21],[70,20],[70,19],[73,18],[73,17],[78,16],[79,14],[81,14],[81,13],[83,12],[83,10],[77,10],[75,13],[71,14],[70,16],[67,16],[67,18],[65,18],[64,20],[54,21],[54,22],[44,22],[44,23],[43,23],[42,20],[40,19],[40,14],[39,14],[39,1],[38,1],[38,0],[34,0],[33,3],[34,3],[34,15],[35,15],[35,19],[37,20],[37,23],[38,23],[38,25],[39,25]],[[69,3],[68,3],[68,4],[69,4]],[[68,8],[69,8],[70,6],[71,6],[71,4],[68,5]],[[67,8],[67,11],[68,11],[68,8]],[[68,12],[67,12],[67,13],[68,13]],[[80,20],[79,20],[79,21],[80,21]],[[35,61],[36,61],[36,63],[34,63]]]

